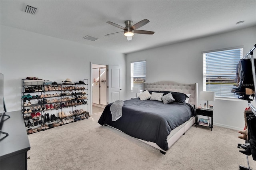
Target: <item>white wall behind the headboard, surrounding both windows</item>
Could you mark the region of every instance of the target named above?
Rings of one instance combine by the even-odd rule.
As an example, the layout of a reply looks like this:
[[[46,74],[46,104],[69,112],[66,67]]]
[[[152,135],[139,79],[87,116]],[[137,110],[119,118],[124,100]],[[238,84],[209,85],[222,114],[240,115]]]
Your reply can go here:
[[[138,51],[126,55],[126,99],[134,97],[130,93],[130,62],[146,59],[146,81],[173,80],[181,83],[198,83],[203,90],[202,51],[243,46],[244,55],[256,43],[256,27],[199,38],[186,42]],[[199,96],[200,97],[200,96]],[[198,104],[204,103],[198,99]],[[216,100],[214,124],[232,129],[244,128],[244,108],[247,101]],[[254,101],[255,104],[255,101]]]

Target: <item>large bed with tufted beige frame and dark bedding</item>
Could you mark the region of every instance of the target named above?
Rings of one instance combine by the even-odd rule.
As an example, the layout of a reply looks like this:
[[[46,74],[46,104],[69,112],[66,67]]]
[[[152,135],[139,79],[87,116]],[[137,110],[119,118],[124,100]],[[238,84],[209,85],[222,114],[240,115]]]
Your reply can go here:
[[[145,92],[150,93],[151,99],[159,93],[163,93],[163,96],[171,93],[176,99],[169,104],[151,99],[141,101],[140,96],[126,100],[122,107],[122,117],[116,121],[112,121],[110,107],[113,103],[110,103],[105,107],[98,123],[116,128],[165,154],[172,144],[195,123],[198,83],[158,81],[144,83],[143,88]],[[184,98],[184,95],[189,98],[185,97],[186,102],[179,102],[180,99],[177,97]]]

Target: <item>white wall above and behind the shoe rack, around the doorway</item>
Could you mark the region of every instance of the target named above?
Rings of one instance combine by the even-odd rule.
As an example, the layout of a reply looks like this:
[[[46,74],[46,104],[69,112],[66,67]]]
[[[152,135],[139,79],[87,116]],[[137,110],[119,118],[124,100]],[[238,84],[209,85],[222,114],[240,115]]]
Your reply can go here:
[[[6,109],[21,110],[22,78],[39,77],[57,83],[66,78],[72,79],[72,82],[89,79],[91,84],[91,62],[124,68],[121,80],[122,89],[125,89],[125,58],[122,53],[1,25],[0,71],[4,74]],[[89,102],[90,91],[89,85]],[[121,99],[124,99],[126,92],[120,93]]]

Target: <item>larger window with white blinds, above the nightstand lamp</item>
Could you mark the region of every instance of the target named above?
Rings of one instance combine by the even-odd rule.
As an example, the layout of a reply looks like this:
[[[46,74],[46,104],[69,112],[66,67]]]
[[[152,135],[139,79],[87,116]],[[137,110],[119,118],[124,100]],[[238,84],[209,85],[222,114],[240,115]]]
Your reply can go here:
[[[203,53],[204,91],[214,91],[216,97],[238,98],[231,89],[239,82],[236,67],[242,53],[242,48]]]

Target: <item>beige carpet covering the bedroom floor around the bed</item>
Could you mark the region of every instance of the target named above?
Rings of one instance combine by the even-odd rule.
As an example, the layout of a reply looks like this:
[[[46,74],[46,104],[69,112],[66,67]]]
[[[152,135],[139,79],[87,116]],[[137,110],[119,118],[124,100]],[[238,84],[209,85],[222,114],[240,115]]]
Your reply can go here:
[[[28,135],[28,170],[238,170],[247,166],[236,130],[192,126],[165,155],[89,119]],[[256,161],[248,156],[250,168]]]

